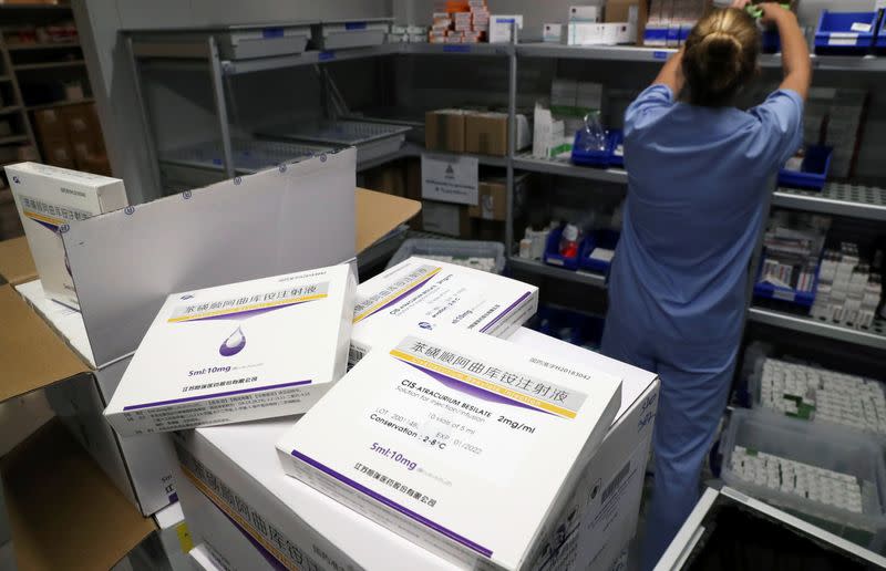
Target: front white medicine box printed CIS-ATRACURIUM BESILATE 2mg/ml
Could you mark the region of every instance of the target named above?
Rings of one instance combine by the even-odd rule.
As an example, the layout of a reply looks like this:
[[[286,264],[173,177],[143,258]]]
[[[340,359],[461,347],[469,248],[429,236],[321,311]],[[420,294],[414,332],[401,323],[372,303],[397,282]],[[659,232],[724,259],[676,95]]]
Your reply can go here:
[[[402,329],[277,444],[284,469],[456,564],[545,549],[621,380],[457,330]]]

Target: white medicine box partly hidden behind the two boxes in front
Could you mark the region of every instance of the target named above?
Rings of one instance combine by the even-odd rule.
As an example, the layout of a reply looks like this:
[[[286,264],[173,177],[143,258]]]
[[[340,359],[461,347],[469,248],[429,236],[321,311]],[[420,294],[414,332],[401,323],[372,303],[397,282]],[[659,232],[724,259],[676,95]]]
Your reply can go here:
[[[471,268],[412,257],[357,289],[349,363],[403,331],[436,325],[507,338],[538,309],[538,288]]]

